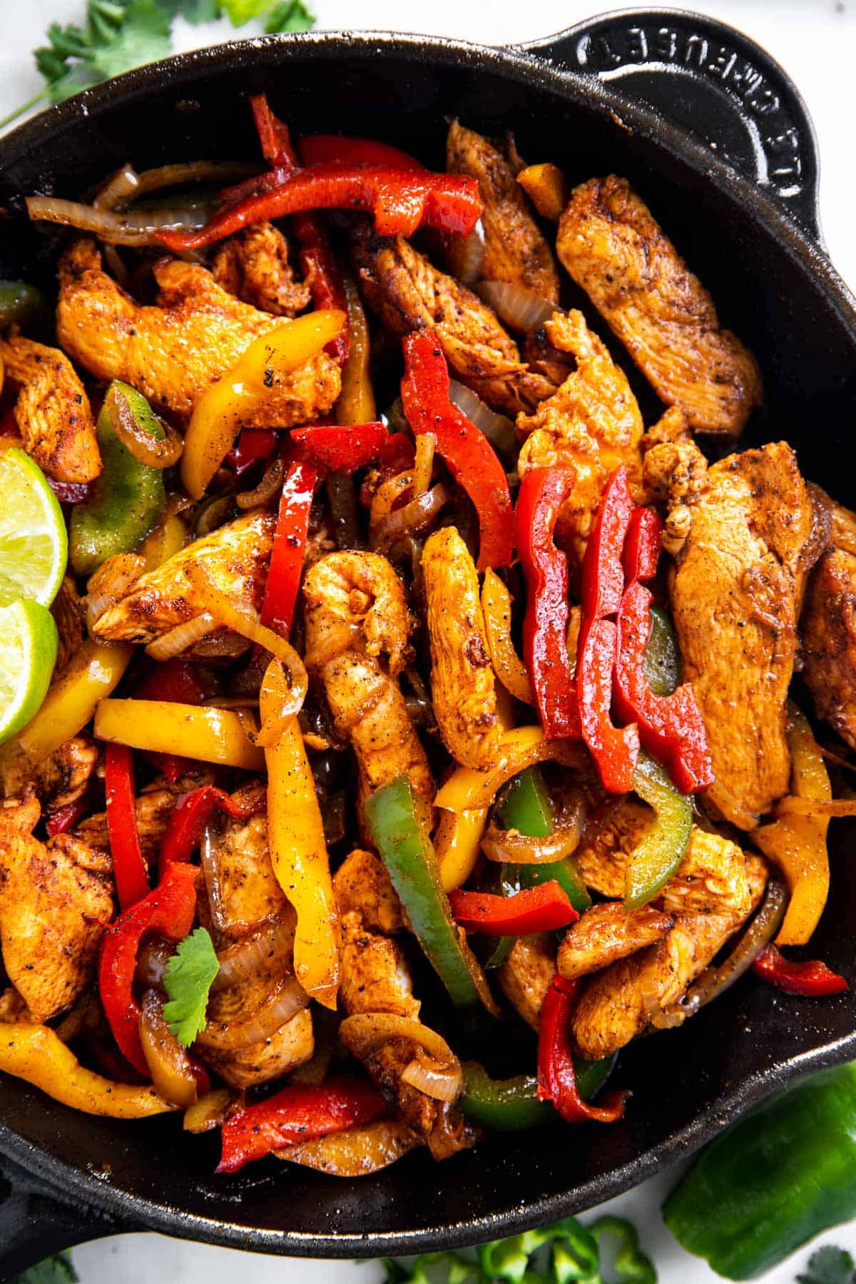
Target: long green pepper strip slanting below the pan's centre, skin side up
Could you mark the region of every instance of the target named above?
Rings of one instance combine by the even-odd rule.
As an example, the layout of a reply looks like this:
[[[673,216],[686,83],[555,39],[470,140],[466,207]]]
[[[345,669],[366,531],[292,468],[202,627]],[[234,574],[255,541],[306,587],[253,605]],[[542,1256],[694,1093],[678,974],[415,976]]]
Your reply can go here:
[[[413,935],[456,1007],[484,1003],[495,1013],[488,982],[452,918],[427,828],[417,814],[407,773],[366,799],[366,824],[404,907]]]

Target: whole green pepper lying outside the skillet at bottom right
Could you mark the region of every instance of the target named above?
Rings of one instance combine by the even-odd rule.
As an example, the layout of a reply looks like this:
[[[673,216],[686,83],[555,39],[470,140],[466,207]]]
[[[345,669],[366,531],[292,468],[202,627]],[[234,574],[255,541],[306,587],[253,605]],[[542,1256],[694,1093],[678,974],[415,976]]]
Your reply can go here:
[[[733,1280],[856,1216],[856,1062],[779,1093],[712,1141],[663,1204],[678,1242]]]

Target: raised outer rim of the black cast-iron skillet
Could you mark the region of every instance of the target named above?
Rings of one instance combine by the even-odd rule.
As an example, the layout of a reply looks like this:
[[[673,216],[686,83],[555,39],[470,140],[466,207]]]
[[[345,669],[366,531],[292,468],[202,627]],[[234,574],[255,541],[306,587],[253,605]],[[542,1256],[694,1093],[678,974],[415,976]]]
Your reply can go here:
[[[651,14],[653,10],[633,10]],[[657,10],[660,12],[660,10]],[[626,13],[626,10],[625,10]],[[694,17],[688,10],[662,10],[671,14]],[[620,17],[619,13],[598,14]],[[699,22],[706,22],[698,15]],[[824,294],[835,321],[850,335],[856,349],[856,298],[838,275],[824,250],[800,227],[789,213],[761,187],[732,166],[712,154],[703,143],[687,130],[670,122],[662,113],[644,103],[634,101],[620,90],[611,89],[595,74],[556,67],[544,59],[549,48],[558,45],[572,31],[584,27],[575,23],[565,31],[540,41],[508,48],[484,46],[470,41],[441,36],[421,36],[386,31],[323,31],[284,36],[261,36],[234,40],[207,49],[193,50],[160,59],[142,68],[127,72],[103,85],[58,104],[24,122],[0,139],[0,173],[9,164],[24,159],[55,131],[72,127],[81,117],[95,117],[109,112],[110,107],[128,99],[144,100],[157,92],[169,78],[191,85],[207,72],[217,74],[228,67],[240,68],[248,59],[258,58],[259,65],[275,65],[290,58],[316,56],[320,62],[359,54],[390,54],[411,63],[430,62],[432,65],[466,67],[470,73],[493,72],[524,86],[531,85],[554,96],[558,101],[574,101],[588,110],[601,110],[612,116],[617,125],[630,127],[655,146],[676,157],[698,177],[712,182],[725,199],[739,211],[751,225],[760,225],[787,254],[800,272],[812,277]],[[724,26],[724,24],[720,24]],[[534,51],[538,45],[539,51]],[[529,48],[527,48],[529,46]],[[178,86],[176,86],[178,87]],[[856,1028],[850,1035],[823,1044],[807,1052],[748,1076],[725,1095],[703,1108],[690,1122],[669,1134],[657,1145],[643,1150],[611,1172],[578,1184],[563,1194],[540,1197],[525,1206],[506,1212],[476,1219],[453,1219],[443,1226],[394,1233],[316,1234],[289,1230],[267,1230],[245,1226],[228,1220],[189,1213],[167,1203],[157,1203],[127,1190],[110,1186],[103,1177],[85,1167],[73,1167],[58,1159],[49,1150],[24,1140],[4,1121],[0,1121],[0,1150],[31,1174],[58,1188],[59,1198],[80,1199],[130,1222],[127,1229],[158,1230],[185,1239],[201,1240],[232,1248],[252,1248],[257,1252],[290,1254],[298,1257],[379,1257],[408,1254],[436,1247],[463,1247],[513,1234],[531,1226],[543,1225],[558,1217],[579,1212],[613,1195],[621,1194],[639,1181],[653,1175],[666,1163],[684,1158],[715,1136],[752,1104],[769,1093],[784,1086],[800,1075],[823,1070],[856,1057]],[[335,1186],[331,1186],[335,1190]]]

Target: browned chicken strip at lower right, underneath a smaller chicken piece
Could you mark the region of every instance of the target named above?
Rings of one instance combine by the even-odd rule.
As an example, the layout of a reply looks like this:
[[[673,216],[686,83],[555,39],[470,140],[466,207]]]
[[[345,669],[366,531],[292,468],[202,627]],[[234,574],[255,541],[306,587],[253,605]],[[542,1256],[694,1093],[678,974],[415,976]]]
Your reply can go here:
[[[749,899],[744,913],[679,914],[658,945],[612,963],[592,977],[571,1018],[583,1057],[595,1061],[624,1048],[657,1009],[676,1003],[761,901],[766,864],[747,855]]]

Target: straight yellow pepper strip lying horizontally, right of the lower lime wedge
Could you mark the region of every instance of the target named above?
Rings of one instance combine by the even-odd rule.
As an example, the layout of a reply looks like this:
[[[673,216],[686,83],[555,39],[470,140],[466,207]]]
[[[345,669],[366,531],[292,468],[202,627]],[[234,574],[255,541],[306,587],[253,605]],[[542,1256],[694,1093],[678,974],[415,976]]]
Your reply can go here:
[[[250,743],[237,714],[210,705],[167,700],[101,700],[95,710],[98,740],[200,763],[262,772],[264,754]]]

